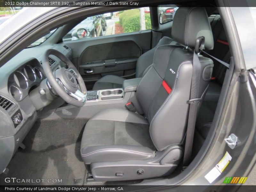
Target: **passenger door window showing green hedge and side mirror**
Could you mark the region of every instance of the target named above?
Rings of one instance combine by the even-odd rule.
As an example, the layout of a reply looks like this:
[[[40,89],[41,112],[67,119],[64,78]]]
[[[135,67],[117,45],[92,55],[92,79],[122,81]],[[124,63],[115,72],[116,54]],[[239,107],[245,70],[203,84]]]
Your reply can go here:
[[[63,41],[116,35],[151,29],[149,7],[90,16],[71,29]]]

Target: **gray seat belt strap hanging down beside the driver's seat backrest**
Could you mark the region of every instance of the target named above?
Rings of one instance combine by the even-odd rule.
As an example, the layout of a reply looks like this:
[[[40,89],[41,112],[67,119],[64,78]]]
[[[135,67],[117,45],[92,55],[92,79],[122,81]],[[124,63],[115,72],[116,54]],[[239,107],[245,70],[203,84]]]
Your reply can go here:
[[[193,64],[192,64],[193,71],[192,71],[190,100],[188,100],[188,103],[190,105],[189,105],[189,113],[188,113],[188,127],[187,127],[186,143],[185,143],[185,149],[184,149],[183,166],[187,166],[189,164],[190,156],[192,153],[193,140],[194,140],[197,108],[201,100],[201,98],[199,98],[201,63],[197,55],[199,53],[199,47],[201,47],[201,45],[204,46],[204,37],[198,37],[196,39],[196,46],[195,46],[195,51],[193,56]]]

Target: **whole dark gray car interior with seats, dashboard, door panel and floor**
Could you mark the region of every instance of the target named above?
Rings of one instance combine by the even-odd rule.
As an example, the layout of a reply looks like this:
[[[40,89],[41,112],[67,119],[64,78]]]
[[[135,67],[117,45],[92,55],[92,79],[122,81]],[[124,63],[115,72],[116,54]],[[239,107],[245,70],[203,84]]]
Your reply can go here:
[[[82,20],[104,13],[86,15],[52,28],[43,43],[0,68],[1,185],[6,177],[157,184],[185,169],[194,59],[200,65],[190,161],[209,137],[227,70],[208,54],[229,63],[231,53],[217,7],[175,7],[163,24],[158,7],[150,7],[151,29],[63,41]],[[116,15],[105,18],[104,33]],[[194,52],[200,36],[208,54]]]

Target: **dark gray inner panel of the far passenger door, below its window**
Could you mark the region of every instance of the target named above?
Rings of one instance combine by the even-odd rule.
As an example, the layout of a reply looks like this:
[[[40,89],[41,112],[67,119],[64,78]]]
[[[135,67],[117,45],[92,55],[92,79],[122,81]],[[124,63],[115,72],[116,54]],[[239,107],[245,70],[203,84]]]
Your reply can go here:
[[[151,30],[64,42],[88,89],[106,75],[134,78],[136,62],[150,49]]]

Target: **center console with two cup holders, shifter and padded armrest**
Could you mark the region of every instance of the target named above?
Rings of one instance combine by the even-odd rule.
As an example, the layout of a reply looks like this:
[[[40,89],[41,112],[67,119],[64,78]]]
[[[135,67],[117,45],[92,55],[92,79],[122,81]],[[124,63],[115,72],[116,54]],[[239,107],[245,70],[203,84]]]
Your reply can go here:
[[[137,100],[136,91],[142,78],[127,79],[122,88],[88,91],[87,99],[83,107],[75,107],[67,104],[65,106],[48,109],[40,118],[91,118],[106,108],[123,108],[127,103],[132,102],[136,111],[142,114],[143,111]]]

